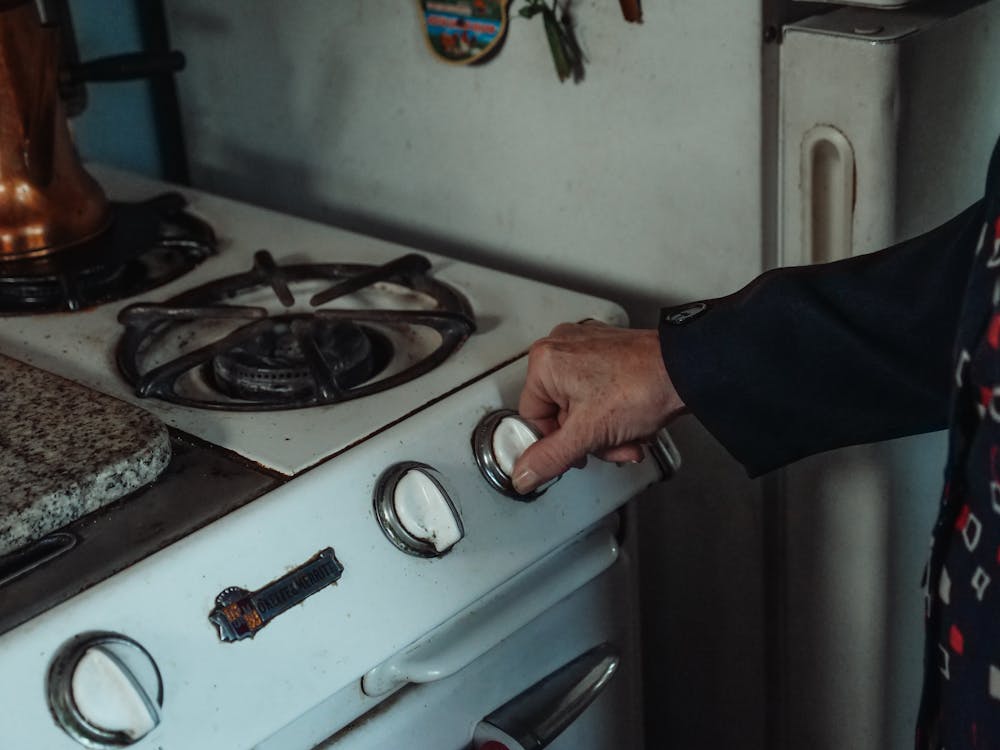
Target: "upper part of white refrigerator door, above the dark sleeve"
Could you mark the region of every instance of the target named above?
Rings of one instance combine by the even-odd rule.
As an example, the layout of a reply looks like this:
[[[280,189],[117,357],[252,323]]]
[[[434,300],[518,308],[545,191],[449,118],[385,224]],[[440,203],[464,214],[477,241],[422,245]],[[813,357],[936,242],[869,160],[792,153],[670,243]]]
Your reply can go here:
[[[783,264],[880,249],[981,197],[1000,127],[1000,4],[949,7],[965,10],[845,8],[785,29]]]

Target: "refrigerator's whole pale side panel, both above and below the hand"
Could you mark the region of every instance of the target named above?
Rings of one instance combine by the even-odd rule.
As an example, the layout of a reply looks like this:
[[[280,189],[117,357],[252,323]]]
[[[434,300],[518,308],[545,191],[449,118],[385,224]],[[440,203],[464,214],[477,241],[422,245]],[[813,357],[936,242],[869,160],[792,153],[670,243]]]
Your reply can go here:
[[[761,10],[644,6],[635,26],[577,0],[587,76],[560,85],[538,18],[460,68],[417,0],[171,0],[193,181],[649,324],[761,268]],[[688,468],[640,514],[649,747],[763,747],[759,490],[697,425],[678,436]]]

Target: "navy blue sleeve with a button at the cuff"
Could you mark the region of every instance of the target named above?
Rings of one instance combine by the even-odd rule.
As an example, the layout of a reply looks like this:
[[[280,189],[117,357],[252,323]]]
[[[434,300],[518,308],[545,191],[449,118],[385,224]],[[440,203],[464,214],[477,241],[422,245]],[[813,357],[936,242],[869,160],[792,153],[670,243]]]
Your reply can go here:
[[[664,310],[678,393],[751,476],[944,428],[983,215],[977,203],[886,250],[770,271],[728,297]]]

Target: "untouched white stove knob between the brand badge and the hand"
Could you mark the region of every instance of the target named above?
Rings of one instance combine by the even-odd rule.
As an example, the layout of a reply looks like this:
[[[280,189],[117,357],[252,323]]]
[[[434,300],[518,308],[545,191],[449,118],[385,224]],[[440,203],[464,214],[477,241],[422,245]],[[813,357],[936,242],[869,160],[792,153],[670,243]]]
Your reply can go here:
[[[413,461],[391,466],[379,477],[375,517],[389,541],[419,557],[441,557],[465,536],[441,475]]]

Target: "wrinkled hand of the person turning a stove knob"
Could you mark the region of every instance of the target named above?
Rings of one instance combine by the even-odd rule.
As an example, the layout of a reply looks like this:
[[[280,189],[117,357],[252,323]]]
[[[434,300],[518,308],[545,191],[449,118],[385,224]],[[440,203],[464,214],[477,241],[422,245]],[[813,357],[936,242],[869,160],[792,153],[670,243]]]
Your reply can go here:
[[[519,411],[543,437],[514,464],[514,488],[531,492],[588,454],[640,461],[642,441],[683,410],[656,331],[556,326],[528,356]]]

